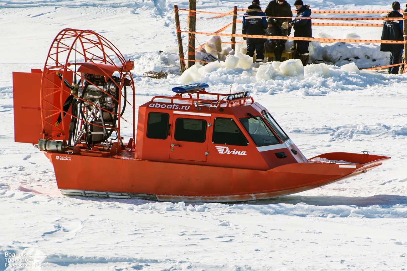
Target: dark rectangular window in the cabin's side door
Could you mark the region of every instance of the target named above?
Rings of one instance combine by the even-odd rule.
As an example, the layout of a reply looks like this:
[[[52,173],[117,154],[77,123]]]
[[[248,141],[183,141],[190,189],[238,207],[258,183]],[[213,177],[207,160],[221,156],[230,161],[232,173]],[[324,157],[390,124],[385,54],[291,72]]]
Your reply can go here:
[[[204,119],[176,119],[174,139],[178,141],[205,142],[206,121]]]

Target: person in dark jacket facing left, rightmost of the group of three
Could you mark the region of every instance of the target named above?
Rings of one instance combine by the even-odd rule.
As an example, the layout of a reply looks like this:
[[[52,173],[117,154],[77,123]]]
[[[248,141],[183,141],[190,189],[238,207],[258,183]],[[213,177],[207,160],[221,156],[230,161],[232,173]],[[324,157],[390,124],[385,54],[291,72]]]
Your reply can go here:
[[[296,0],[294,3],[295,8],[297,9],[297,17],[292,20],[288,26],[294,27],[294,37],[312,37],[312,28],[311,28],[311,9],[309,5],[304,5],[302,0]],[[304,18],[304,19],[302,19]],[[309,61],[309,51],[308,46],[311,41],[299,41],[295,40],[294,44],[297,45],[297,50],[295,51],[296,58],[301,59],[302,65],[305,66]]]

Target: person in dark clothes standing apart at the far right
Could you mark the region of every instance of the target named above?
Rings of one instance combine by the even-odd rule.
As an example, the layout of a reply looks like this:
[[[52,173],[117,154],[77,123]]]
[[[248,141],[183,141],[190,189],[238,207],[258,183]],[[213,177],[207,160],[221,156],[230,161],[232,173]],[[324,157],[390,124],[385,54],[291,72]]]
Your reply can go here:
[[[400,14],[400,3],[393,2],[393,11],[386,15],[387,18],[403,18]],[[402,41],[403,40],[403,19],[385,20],[381,40]],[[403,44],[381,43],[380,50],[390,52],[390,65],[400,64],[403,62]],[[389,74],[398,74],[400,65],[389,67]]]

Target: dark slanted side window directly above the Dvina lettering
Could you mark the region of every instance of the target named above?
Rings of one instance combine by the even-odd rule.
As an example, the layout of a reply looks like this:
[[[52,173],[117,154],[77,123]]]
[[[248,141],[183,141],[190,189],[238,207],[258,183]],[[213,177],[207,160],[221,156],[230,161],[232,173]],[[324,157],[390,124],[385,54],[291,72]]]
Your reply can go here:
[[[215,118],[212,133],[212,142],[215,144],[246,146],[249,144],[246,137],[230,118]]]

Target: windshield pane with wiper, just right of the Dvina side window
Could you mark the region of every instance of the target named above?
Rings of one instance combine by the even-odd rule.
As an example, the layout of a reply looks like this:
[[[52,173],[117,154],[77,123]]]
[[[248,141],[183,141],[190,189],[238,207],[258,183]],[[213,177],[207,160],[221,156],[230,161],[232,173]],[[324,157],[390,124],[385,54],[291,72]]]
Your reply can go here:
[[[242,118],[240,121],[256,145],[265,146],[280,143],[262,117],[252,116]]]

